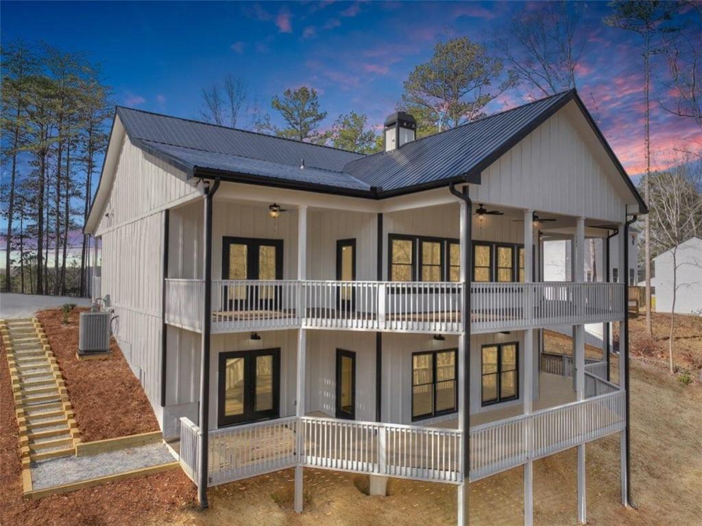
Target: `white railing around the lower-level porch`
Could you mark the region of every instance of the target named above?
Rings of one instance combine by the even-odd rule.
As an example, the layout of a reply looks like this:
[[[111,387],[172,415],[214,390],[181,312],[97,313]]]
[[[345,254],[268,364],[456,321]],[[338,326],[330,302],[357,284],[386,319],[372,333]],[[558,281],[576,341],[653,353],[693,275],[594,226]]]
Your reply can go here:
[[[585,374],[586,399],[470,428],[470,480],[475,481],[620,431],[625,392]],[[199,480],[201,433],[183,418],[180,464]],[[210,431],[208,485],[293,466],[460,483],[461,431],[312,416]]]

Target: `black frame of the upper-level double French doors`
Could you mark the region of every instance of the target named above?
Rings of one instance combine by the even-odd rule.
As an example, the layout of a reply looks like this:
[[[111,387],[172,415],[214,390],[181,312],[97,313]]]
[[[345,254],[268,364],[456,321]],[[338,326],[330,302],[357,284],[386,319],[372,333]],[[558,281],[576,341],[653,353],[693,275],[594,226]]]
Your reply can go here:
[[[232,244],[245,244],[246,249],[246,280],[258,280],[260,268],[258,268],[258,249],[261,246],[275,247],[275,279],[283,279],[283,240],[282,239],[266,239],[263,237],[222,237],[222,279],[227,280],[229,276],[229,254]],[[274,297],[268,301],[260,301],[256,289],[253,287],[246,288],[246,300],[240,305],[234,305],[234,300],[225,297],[222,294],[222,310],[249,310],[270,309],[273,305],[279,305],[279,298],[282,294],[280,287],[274,289]]]

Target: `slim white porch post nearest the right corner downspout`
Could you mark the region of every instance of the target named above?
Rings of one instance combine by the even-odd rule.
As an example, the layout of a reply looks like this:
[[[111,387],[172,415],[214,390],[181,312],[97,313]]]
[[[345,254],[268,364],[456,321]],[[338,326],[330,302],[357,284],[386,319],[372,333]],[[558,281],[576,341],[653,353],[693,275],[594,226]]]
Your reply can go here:
[[[580,217],[576,222],[576,260],[574,265],[574,281],[585,282],[585,218]],[[576,296],[578,310],[581,316],[585,313],[585,293],[581,289]],[[582,320],[581,320],[582,321]],[[585,400],[585,325],[582,322],[575,327],[575,376],[576,397],[578,401]],[[585,444],[578,445],[578,522],[585,524]]]

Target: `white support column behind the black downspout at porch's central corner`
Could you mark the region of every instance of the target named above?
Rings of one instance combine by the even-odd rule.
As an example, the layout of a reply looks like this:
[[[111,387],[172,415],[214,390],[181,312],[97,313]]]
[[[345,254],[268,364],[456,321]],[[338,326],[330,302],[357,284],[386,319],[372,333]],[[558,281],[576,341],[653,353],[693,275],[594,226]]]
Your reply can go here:
[[[461,201],[460,208],[460,233],[458,239],[460,239],[460,254],[461,254],[461,283],[465,282],[465,278],[468,276],[468,268],[465,268],[465,254],[468,250],[468,246],[465,246],[465,233],[468,225],[465,221],[466,214],[466,204],[465,201]],[[470,291],[463,291],[463,294],[470,294]],[[470,422],[465,421],[465,411],[463,407],[466,403],[465,400],[465,382],[470,381],[470,379],[465,378],[465,360],[470,360],[470,357],[465,356],[463,350],[465,349],[465,327],[468,321],[467,313],[464,312],[465,309],[461,308],[461,325],[463,331],[461,336],[458,336],[458,430],[461,433],[470,433]],[[470,466],[463,466],[463,482],[458,485],[458,526],[465,526],[468,524],[468,492],[470,491]]]

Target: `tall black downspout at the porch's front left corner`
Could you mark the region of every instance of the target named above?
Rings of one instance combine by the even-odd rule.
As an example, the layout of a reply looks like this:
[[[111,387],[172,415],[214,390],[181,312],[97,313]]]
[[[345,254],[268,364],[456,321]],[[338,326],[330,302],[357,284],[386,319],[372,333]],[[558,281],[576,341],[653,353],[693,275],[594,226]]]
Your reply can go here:
[[[219,188],[220,180],[215,179],[212,187],[205,186],[205,280],[204,280],[204,320],[202,323],[202,357],[201,357],[201,385],[200,385],[200,483],[197,485],[197,499],[201,508],[207,508],[207,483],[208,483],[208,428],[210,410],[210,334],[212,317],[212,198]]]

